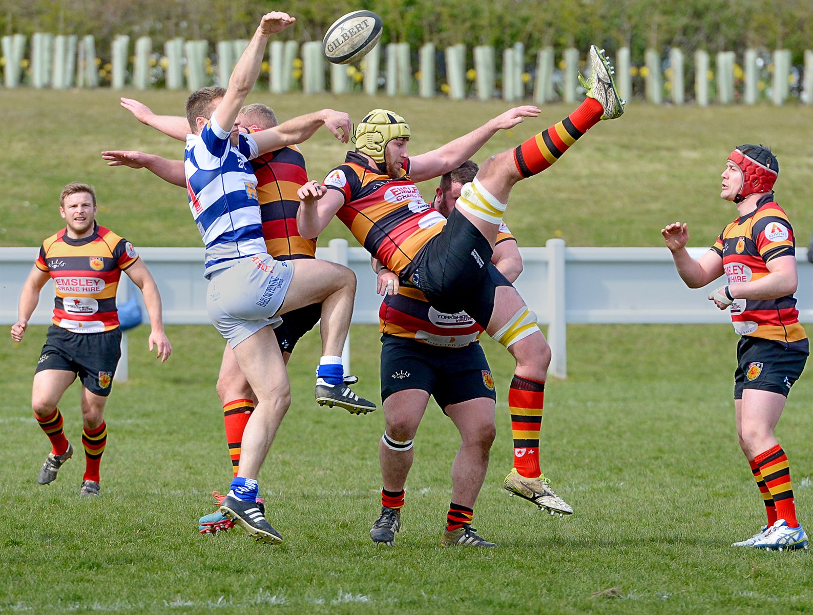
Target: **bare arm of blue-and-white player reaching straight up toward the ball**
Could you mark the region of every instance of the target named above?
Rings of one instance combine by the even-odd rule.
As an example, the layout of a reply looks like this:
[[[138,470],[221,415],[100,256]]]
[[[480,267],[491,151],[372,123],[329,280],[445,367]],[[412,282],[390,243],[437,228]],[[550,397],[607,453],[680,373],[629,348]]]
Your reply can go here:
[[[234,120],[237,120],[237,114],[240,112],[240,107],[243,106],[243,102],[245,102],[246,96],[249,95],[251,89],[254,88],[254,83],[259,76],[260,66],[263,63],[268,37],[273,33],[284,30],[294,21],[296,20],[288,13],[280,11],[272,11],[263,15],[254,36],[249,41],[249,45],[243,51],[240,59],[237,60],[237,65],[228,80],[228,88],[226,88],[223,100],[212,114],[212,117],[217,124],[220,124],[222,129],[232,129]]]

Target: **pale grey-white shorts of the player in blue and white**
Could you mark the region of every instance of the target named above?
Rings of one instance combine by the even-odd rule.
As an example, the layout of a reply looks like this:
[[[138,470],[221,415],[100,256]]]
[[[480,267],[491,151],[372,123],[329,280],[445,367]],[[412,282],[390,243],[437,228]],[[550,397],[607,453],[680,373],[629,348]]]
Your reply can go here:
[[[274,315],[292,278],[293,264],[268,254],[246,256],[228,269],[215,271],[206,301],[211,324],[231,347],[263,327],[280,325],[282,318]]]

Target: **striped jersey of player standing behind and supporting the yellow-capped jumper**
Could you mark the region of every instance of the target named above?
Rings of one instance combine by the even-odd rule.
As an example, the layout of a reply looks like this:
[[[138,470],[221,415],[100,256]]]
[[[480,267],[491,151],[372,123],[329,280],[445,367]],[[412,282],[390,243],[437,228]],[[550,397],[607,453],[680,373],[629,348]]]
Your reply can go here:
[[[516,239],[503,222],[496,244],[505,241]],[[385,296],[378,310],[378,320],[382,334],[446,348],[468,346],[483,333],[483,328],[466,312],[438,312],[420,290],[411,286],[401,286],[398,294]]]

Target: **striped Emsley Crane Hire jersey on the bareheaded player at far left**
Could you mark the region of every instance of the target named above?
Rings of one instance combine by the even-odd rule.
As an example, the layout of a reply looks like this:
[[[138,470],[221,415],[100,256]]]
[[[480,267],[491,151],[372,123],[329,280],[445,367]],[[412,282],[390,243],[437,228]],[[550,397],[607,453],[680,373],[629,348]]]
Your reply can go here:
[[[115,292],[136,260],[132,243],[99,225],[83,239],[69,238],[67,229],[47,238],[35,264],[54,280],[54,325],[81,334],[118,327]]]

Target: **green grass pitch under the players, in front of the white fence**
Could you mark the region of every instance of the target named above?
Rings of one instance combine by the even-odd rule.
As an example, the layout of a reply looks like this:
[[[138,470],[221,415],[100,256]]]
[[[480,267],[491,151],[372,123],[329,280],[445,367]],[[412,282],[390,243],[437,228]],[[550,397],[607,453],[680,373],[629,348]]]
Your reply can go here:
[[[105,610],[209,613],[224,603],[284,613],[810,613],[807,552],[728,547],[763,522],[737,447],[731,402],[735,336],[727,326],[572,326],[570,377],[551,381],[543,467],[576,509],[542,514],[506,497],[511,466],[506,388],[511,364],[486,351],[498,385],[498,439],[475,526],[500,548],[437,546],[459,437],[434,404],[415,440],[403,530],[391,549],[367,532],[380,489],[383,416],[350,417],[311,401],[318,338],[291,362],[293,405],[260,475],[280,547],[241,530],[199,536],[212,489],[230,478],[214,382],[211,327],[170,327],[175,352],[159,365],[146,331],[130,339],[131,380],[107,410],[102,495],[77,493],[79,451],[50,486],[34,481],[47,449],[29,388],[44,328],[0,345],[0,451],[7,495],[0,532],[0,612]],[[361,395],[379,399],[373,327],[353,330]],[[689,347],[690,346],[690,347]],[[641,348],[647,348],[645,352]],[[778,435],[789,451],[802,520],[809,521],[813,385],[793,389]],[[61,404],[79,443],[76,385]],[[615,597],[594,595],[610,591]]]

